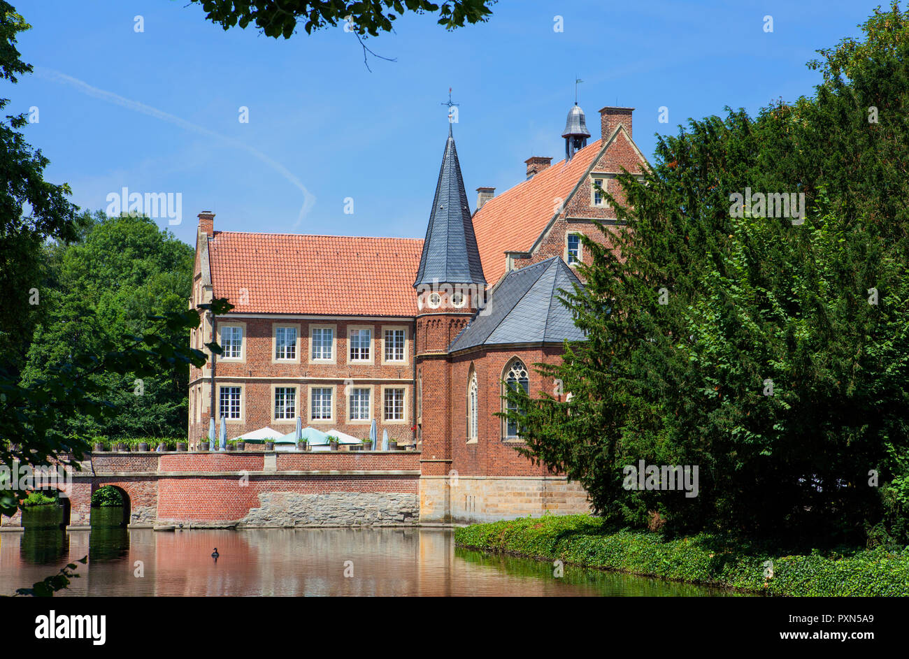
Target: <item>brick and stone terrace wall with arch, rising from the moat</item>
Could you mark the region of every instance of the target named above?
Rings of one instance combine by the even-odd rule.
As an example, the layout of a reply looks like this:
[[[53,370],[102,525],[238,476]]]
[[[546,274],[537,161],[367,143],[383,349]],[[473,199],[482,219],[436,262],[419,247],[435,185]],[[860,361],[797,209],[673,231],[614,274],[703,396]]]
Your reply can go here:
[[[105,485],[129,497],[134,525],[413,523],[419,461],[409,451],[93,454],[74,475],[70,524],[89,523]]]

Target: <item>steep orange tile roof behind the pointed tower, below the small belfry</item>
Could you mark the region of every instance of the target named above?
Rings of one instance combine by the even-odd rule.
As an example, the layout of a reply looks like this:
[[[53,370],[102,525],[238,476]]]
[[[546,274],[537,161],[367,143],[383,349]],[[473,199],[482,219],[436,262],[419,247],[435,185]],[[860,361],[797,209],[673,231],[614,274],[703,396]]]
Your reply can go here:
[[[490,286],[505,272],[505,250],[524,252],[534,245],[555,215],[556,198],[562,201],[591,165],[603,147],[594,140],[574,154],[566,164],[560,160],[501,195],[486,202],[474,213],[474,233],[483,262],[483,275]]]

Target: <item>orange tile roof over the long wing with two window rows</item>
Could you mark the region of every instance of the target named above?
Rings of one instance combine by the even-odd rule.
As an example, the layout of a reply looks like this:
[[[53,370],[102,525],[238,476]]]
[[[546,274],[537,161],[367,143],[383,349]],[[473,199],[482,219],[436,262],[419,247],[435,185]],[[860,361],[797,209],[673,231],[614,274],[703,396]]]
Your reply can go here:
[[[215,297],[245,314],[416,315],[422,248],[413,238],[342,235],[215,231],[208,240]]]

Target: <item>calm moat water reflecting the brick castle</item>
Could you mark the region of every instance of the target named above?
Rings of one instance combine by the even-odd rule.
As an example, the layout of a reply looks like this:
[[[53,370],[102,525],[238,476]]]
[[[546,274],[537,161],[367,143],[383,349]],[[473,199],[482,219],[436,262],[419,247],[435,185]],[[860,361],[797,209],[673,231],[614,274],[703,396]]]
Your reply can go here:
[[[661,579],[484,554],[454,532],[421,528],[300,528],[155,532],[92,510],[90,531],[65,531],[53,506],[28,511],[25,531],[0,533],[0,594],[78,564],[58,595],[722,596]],[[217,547],[219,557],[212,558]]]

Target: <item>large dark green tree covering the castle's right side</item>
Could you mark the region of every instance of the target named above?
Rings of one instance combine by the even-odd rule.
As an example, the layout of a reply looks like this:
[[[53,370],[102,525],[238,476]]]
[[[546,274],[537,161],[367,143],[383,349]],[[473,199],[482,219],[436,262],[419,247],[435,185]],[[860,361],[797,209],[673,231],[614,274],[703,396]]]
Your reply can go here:
[[[909,540],[909,14],[862,27],[810,63],[814,95],[692,120],[644,181],[620,175],[621,259],[584,240],[586,287],[564,300],[587,340],[542,367],[573,396],[510,395],[525,454],[598,513]],[[803,194],[804,223],[736,216],[746,188]],[[626,489],[642,459],[698,465],[698,496]]]

